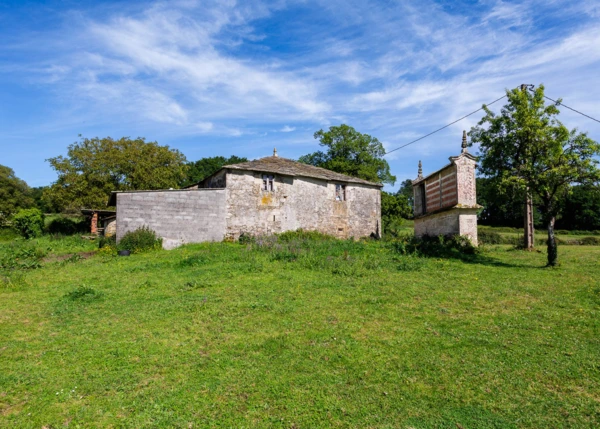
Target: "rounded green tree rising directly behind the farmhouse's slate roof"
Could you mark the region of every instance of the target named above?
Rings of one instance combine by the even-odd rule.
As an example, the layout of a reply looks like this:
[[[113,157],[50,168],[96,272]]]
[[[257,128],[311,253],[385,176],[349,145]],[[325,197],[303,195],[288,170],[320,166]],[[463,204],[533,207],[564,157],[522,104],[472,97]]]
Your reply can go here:
[[[385,149],[375,137],[345,124],[329,127],[329,131],[319,130],[314,137],[327,151],[301,156],[300,162],[371,182],[396,183],[389,164],[383,159]]]

